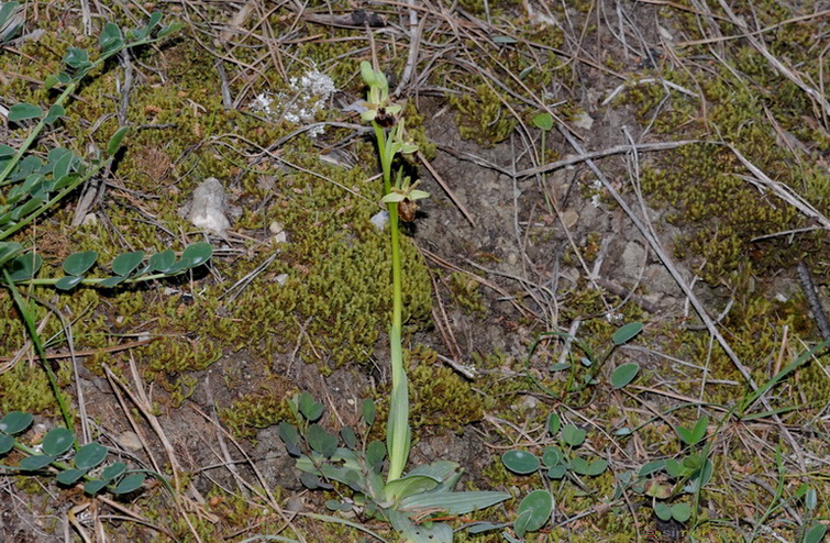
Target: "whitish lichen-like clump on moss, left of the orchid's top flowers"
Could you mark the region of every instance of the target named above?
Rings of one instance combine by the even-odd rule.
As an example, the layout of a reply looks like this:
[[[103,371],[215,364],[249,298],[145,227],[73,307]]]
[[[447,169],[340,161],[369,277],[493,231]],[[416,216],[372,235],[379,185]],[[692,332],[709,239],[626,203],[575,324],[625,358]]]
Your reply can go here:
[[[257,95],[248,104],[251,111],[262,113],[273,122],[284,119],[291,124],[309,123],[337,90],[332,78],[317,69],[299,78],[292,77],[288,82],[289,92]],[[275,102],[281,107],[275,106]],[[323,133],[323,126],[316,126],[308,133],[314,137]]]

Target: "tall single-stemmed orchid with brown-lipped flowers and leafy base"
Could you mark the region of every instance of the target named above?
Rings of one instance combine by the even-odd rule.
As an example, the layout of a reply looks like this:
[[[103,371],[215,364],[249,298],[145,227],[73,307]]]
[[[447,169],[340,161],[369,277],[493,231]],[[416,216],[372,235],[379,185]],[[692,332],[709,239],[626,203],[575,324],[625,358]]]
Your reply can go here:
[[[402,536],[413,543],[452,543],[453,530],[447,517],[467,514],[510,498],[507,492],[456,492],[463,469],[454,462],[435,461],[403,474],[409,458],[411,429],[409,426],[409,389],[403,368],[402,326],[402,263],[399,221],[414,219],[416,201],[428,198],[419,190],[419,181],[403,176],[402,167],[392,177],[398,154],[418,151],[408,137],[402,108],[389,98],[389,85],[383,73],[364,62],[363,79],[368,85],[368,99],[359,110],[364,121],[372,123],[377,138],[384,178],[383,203],[389,211],[391,237],[392,321],[389,330],[392,388],[389,418],[386,424],[386,444],[366,443],[375,421],[375,407],[369,400],[363,406],[363,428],[355,432],[344,428],[340,436],[329,433],[319,423],[323,406],[305,392],[290,403],[297,424],[281,423],[279,434],[288,453],[297,458],[302,472],[300,480],[310,489],[332,489],[337,481],[354,491],[354,498],[329,500],[327,507],[350,514],[365,516],[389,522]],[[342,446],[341,446],[342,443]],[[388,457],[386,480],[381,476]],[[328,522],[353,523],[335,517],[317,516]],[[365,528],[359,527],[362,531]]]

